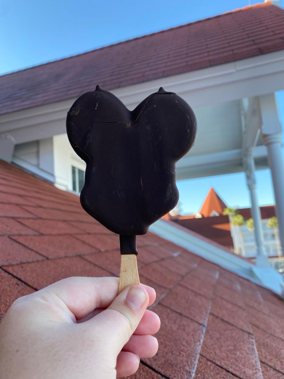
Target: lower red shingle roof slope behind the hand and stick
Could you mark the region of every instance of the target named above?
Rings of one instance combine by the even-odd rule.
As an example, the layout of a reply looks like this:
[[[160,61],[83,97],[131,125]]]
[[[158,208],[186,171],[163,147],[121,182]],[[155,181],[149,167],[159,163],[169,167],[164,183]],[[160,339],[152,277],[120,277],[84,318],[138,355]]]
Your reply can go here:
[[[0,182],[0,317],[19,296],[64,277],[119,274],[118,236],[77,196],[3,161]],[[161,329],[158,354],[133,379],[284,377],[278,296],[153,233],[137,245],[140,280],[156,290]]]

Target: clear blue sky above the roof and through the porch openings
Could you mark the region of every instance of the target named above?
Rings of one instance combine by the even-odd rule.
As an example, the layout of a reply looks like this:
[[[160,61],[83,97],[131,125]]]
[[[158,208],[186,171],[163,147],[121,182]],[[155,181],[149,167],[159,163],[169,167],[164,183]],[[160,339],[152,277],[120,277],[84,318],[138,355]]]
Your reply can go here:
[[[251,0],[251,4],[259,1]],[[1,0],[0,74],[249,5],[249,0]],[[284,125],[284,91],[277,93]],[[257,171],[261,205],[274,202],[268,170]],[[178,182],[184,213],[198,211],[210,186],[230,206],[248,207],[245,175]]]

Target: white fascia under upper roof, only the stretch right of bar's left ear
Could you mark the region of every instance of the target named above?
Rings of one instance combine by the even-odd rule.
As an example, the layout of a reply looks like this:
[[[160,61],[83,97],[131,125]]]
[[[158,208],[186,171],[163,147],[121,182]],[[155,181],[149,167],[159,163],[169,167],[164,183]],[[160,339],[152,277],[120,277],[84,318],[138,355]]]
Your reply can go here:
[[[284,89],[284,50],[185,74],[114,89],[123,103],[136,105],[159,86],[174,91],[191,106],[258,96]]]

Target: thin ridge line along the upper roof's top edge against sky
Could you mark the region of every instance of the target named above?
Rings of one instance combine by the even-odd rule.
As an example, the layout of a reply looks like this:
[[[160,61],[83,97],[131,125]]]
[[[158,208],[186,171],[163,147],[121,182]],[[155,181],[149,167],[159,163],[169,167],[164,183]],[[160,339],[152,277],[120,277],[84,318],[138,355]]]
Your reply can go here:
[[[152,33],[144,34],[142,36],[126,39],[126,40],[120,41],[120,42],[115,42],[115,43],[110,44],[110,45],[101,46],[101,47],[98,47],[97,49],[88,50],[88,51],[83,52],[83,53],[79,53],[79,54],[75,54],[75,55],[70,55],[70,56],[66,56],[64,58],[59,58],[59,59],[55,59],[55,60],[52,60],[52,61],[47,61],[47,62],[44,62],[44,63],[36,64],[34,66],[25,67],[23,69],[19,69],[19,70],[16,70],[16,71],[7,72],[6,74],[0,74],[0,77],[16,74],[17,72],[30,70],[30,69],[33,69],[35,67],[45,66],[47,64],[51,64],[51,63],[55,63],[55,62],[59,62],[59,61],[68,60],[68,59],[71,59],[71,58],[75,58],[77,56],[87,55],[87,54],[93,53],[93,52],[98,51],[98,50],[108,49],[109,47],[113,47],[113,46],[117,46],[117,45],[121,45],[121,44],[126,44],[128,42],[136,41],[137,39],[147,38],[147,37],[153,36],[155,34],[161,34],[161,33],[167,32],[167,31],[171,31],[173,29],[179,29],[179,28],[187,27],[187,26],[192,25],[192,24],[208,21],[208,20],[211,20],[211,19],[216,19],[218,17],[227,16],[229,14],[237,13],[237,12],[240,12],[240,11],[248,11],[249,9],[261,8],[263,6],[275,6],[275,5],[272,3],[272,0],[265,0],[263,3],[256,3],[254,5],[247,5],[247,6],[244,6],[242,8],[236,8],[236,9],[233,9],[232,11],[226,11],[224,13],[217,14],[215,16],[206,17],[204,19],[200,19],[200,20],[196,20],[196,21],[192,21],[192,22],[187,22],[185,24],[177,25],[175,27],[171,27],[171,28],[167,28],[167,29],[162,29],[162,30],[154,31]]]

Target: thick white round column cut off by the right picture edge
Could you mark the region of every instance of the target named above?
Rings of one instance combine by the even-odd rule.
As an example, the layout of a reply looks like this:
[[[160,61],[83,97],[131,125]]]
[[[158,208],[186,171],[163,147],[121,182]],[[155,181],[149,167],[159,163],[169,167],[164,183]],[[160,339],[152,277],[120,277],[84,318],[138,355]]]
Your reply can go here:
[[[262,135],[262,140],[267,146],[268,163],[275,194],[275,213],[278,219],[281,254],[284,255],[284,165],[281,153],[281,133]]]

